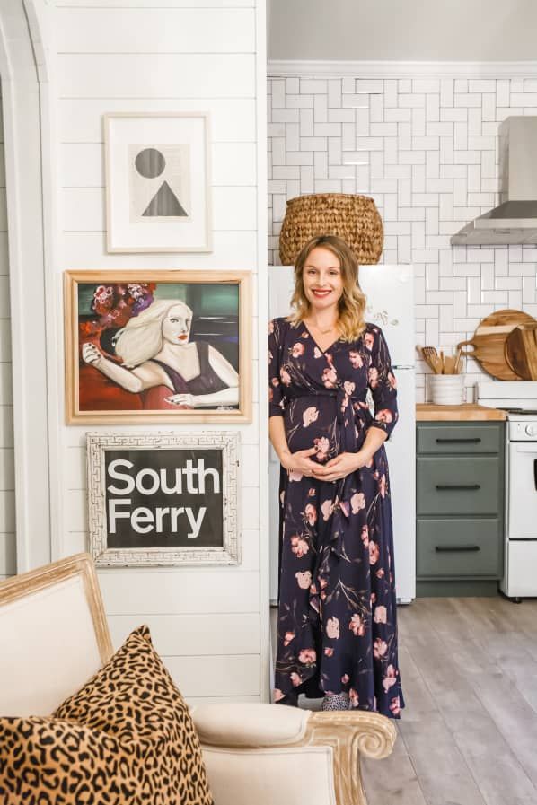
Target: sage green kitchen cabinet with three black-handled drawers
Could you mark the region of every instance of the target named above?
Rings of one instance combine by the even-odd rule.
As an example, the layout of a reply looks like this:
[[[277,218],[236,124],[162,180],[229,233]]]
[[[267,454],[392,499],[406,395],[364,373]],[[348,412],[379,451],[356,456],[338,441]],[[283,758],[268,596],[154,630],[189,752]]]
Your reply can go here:
[[[503,571],[503,422],[418,422],[417,595],[495,595]]]

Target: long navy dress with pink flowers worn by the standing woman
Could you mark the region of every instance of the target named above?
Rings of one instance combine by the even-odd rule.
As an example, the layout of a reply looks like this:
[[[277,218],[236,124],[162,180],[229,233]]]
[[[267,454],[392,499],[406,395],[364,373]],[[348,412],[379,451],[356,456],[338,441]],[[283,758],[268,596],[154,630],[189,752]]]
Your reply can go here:
[[[269,416],[291,452],[325,463],[370,427],[392,433],[397,383],[381,328],[322,351],[304,322],[269,326]],[[371,389],[374,416],[366,402]],[[348,693],[351,707],[399,718],[392,503],[384,446],[336,482],[281,469],[274,700]]]

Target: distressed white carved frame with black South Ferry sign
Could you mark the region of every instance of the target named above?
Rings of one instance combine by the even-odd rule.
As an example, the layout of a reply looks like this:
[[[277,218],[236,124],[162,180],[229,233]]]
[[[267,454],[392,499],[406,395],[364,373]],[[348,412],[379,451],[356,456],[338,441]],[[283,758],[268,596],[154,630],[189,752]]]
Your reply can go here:
[[[86,440],[89,548],[98,567],[240,564],[240,433],[87,433]],[[196,455],[207,467],[199,458],[194,467]],[[186,507],[192,501],[196,510]]]

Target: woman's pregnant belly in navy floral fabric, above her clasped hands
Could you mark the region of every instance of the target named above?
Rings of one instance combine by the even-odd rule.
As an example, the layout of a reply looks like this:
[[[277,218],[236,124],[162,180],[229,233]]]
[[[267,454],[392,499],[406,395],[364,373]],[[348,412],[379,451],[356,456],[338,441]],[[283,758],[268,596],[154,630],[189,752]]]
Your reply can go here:
[[[336,401],[323,398],[321,406],[315,398],[298,398],[286,407],[284,424],[289,450],[316,448],[313,460],[324,463],[340,451],[339,425]]]

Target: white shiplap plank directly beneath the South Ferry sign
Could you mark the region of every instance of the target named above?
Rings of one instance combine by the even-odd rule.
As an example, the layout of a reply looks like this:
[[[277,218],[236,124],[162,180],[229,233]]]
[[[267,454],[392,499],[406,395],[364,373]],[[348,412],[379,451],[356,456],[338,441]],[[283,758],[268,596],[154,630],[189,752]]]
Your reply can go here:
[[[110,615],[259,611],[259,573],[233,567],[100,570],[99,582]]]

